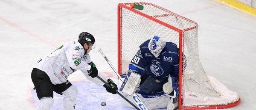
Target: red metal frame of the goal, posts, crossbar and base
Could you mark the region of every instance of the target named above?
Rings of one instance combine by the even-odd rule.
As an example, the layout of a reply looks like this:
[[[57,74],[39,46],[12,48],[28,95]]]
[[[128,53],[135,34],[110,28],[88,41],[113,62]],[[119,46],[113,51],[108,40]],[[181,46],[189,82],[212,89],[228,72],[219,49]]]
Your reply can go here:
[[[184,31],[187,31],[187,30],[191,30],[191,29],[194,29],[194,28],[197,28],[198,27],[198,24],[190,19],[187,19],[183,16],[180,16],[178,14],[175,14],[169,10],[166,10],[160,6],[157,6],[157,5],[154,5],[152,3],[138,3],[138,4],[147,4],[147,5],[154,5],[155,7],[157,8],[160,8],[164,11],[168,11],[170,13],[173,13],[175,14],[175,16],[179,16],[183,19],[186,19],[190,22],[194,22],[196,23],[197,25],[195,27],[190,27],[190,28],[187,28],[187,29],[184,29],[184,30],[180,30],[172,25],[169,25],[165,22],[162,22],[156,18],[154,18],[153,16],[149,16],[147,14],[144,14],[140,11],[137,11],[136,9],[134,8],[131,8],[129,6],[127,6],[129,3],[119,3],[118,6],[117,6],[117,63],[118,63],[118,73],[121,74],[121,70],[122,70],[122,8],[125,8],[125,9],[128,9],[130,11],[133,11],[134,13],[136,14],[140,14],[141,16],[145,17],[145,18],[148,18],[154,22],[157,22],[163,26],[166,26],[166,27],[169,27],[170,29],[172,30],[175,30],[179,33],[179,97],[183,97],[183,73],[182,73],[182,69],[183,69],[183,64],[182,64],[182,60],[183,60],[183,55],[182,55],[182,52],[183,52],[183,32]],[[168,16],[168,15],[158,15],[158,16]],[[241,101],[241,99],[239,99],[237,102],[234,102],[234,103],[230,103],[230,104],[227,104],[227,105],[212,105],[212,106],[205,106],[205,107],[198,107],[198,106],[195,106],[195,107],[183,107],[182,106],[182,99],[179,98],[178,99],[178,108],[179,110],[199,110],[199,109],[223,109],[223,108],[229,108],[229,107],[233,107],[233,106],[236,106],[237,104],[239,104],[239,102]]]

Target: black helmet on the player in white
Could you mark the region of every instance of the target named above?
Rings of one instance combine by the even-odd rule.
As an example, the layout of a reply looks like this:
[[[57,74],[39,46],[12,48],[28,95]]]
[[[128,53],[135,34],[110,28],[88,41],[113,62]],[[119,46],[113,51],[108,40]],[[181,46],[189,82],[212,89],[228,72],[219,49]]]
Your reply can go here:
[[[79,39],[78,42],[84,46],[84,44],[86,43],[88,46],[90,46],[91,44],[95,43],[95,38],[93,37],[93,35],[91,35],[90,33],[87,32],[82,32],[79,34]]]

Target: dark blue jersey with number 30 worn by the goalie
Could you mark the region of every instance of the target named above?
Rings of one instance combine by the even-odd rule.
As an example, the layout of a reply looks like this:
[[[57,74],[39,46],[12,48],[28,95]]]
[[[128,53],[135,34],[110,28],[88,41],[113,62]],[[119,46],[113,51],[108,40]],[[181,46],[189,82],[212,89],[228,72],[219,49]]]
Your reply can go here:
[[[166,42],[160,55],[156,58],[148,50],[150,39],[140,45],[140,50],[136,53],[129,64],[129,71],[142,74],[143,71],[154,77],[168,77],[169,75],[178,77],[179,49],[172,42]]]

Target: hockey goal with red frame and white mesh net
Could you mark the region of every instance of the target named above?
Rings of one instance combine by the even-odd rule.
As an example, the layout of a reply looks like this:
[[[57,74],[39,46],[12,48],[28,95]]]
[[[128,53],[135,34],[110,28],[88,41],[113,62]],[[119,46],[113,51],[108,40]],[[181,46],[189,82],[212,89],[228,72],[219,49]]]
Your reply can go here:
[[[179,47],[179,110],[221,109],[239,104],[239,95],[207,76],[201,66],[196,22],[152,3],[136,3],[143,5],[143,10],[129,4],[118,4],[119,74],[128,70],[140,44],[160,36]]]

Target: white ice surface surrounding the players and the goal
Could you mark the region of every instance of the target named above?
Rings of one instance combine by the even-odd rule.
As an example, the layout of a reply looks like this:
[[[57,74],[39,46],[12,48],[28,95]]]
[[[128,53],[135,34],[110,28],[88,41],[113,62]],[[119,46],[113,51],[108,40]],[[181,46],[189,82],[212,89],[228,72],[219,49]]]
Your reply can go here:
[[[241,96],[228,110],[256,109],[256,16],[215,0],[0,0],[0,110],[34,110],[33,66],[83,31],[117,68],[117,5],[131,2],[154,3],[197,22],[204,70]],[[90,55],[100,74],[116,78],[97,50]],[[133,110],[80,71],[68,80],[79,89],[76,110]],[[54,97],[52,110],[60,110],[62,96]]]

